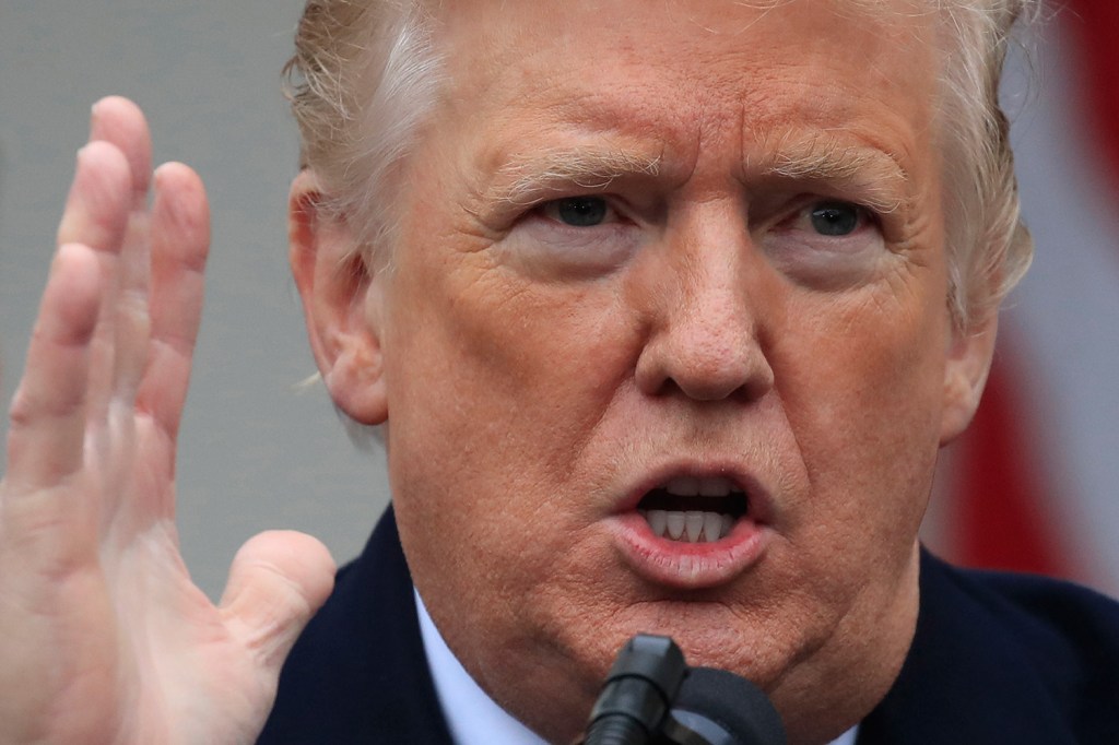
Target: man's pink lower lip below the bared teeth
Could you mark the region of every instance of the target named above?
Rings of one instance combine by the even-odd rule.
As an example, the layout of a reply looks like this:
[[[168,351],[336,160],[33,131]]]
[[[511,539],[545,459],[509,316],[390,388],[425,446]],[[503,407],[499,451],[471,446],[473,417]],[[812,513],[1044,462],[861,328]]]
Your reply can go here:
[[[610,519],[614,545],[639,574],[677,590],[705,590],[724,585],[758,564],[770,531],[753,520],[739,520],[715,543],[689,544],[652,534],[641,515],[630,511]]]

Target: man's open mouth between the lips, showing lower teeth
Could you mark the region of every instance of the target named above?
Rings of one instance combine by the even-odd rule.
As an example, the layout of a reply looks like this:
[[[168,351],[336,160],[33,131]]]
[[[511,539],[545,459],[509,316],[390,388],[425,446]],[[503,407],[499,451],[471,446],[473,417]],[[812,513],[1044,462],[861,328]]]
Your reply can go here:
[[[723,477],[677,477],[649,491],[638,512],[652,535],[680,543],[715,543],[749,509],[746,493]]]

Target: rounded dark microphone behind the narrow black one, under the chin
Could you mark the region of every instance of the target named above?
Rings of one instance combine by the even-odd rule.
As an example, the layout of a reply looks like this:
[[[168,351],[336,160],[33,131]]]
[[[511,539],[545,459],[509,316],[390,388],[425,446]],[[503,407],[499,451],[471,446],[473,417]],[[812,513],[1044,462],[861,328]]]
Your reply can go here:
[[[784,724],[769,697],[726,670],[692,668],[664,734],[678,745],[784,745]]]

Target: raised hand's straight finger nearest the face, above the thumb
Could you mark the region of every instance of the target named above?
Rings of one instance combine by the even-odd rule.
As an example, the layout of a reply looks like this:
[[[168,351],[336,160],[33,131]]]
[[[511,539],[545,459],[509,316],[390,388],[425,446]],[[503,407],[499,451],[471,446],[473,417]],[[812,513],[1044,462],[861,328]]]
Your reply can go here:
[[[181,163],[156,172],[151,226],[151,343],[137,406],[178,434],[201,319],[209,211],[198,176]]]

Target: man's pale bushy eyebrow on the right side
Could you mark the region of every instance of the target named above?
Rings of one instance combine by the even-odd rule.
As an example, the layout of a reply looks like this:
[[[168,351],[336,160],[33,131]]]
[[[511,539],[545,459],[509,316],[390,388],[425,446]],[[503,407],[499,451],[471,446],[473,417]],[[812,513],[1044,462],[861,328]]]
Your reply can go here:
[[[897,210],[910,185],[909,172],[893,153],[827,132],[786,134],[750,151],[745,167],[752,177],[855,186],[867,206],[881,213]]]

